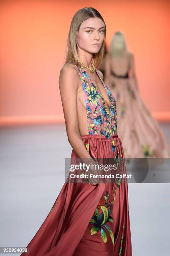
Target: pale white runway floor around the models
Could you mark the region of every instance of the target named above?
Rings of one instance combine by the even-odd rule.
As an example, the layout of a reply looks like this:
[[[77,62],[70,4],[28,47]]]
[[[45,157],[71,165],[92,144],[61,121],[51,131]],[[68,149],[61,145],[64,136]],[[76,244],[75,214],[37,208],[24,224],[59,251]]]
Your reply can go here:
[[[160,125],[170,142],[170,124]],[[63,187],[71,150],[65,125],[0,128],[0,247],[28,245]],[[128,190],[132,255],[168,255],[170,184]]]

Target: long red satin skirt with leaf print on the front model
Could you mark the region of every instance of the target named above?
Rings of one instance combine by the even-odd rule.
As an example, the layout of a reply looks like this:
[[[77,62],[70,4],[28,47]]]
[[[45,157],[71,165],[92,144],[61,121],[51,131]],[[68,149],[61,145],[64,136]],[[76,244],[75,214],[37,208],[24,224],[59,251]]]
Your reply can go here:
[[[81,136],[91,157],[117,158],[126,174],[118,136]],[[78,159],[72,150],[71,163]],[[64,183],[53,207],[28,244],[29,256],[132,256],[128,187],[114,183]],[[23,255],[23,253],[21,254]],[[25,255],[25,254],[24,254]]]

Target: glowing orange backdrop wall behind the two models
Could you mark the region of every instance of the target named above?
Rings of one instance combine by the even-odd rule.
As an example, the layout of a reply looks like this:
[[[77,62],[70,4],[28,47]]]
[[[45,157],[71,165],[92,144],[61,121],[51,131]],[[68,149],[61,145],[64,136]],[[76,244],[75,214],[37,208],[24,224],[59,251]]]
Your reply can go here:
[[[149,2],[149,3],[148,3]],[[63,122],[58,88],[76,10],[94,7],[107,44],[124,32],[140,93],[157,120],[170,121],[170,1],[1,1],[0,124]]]

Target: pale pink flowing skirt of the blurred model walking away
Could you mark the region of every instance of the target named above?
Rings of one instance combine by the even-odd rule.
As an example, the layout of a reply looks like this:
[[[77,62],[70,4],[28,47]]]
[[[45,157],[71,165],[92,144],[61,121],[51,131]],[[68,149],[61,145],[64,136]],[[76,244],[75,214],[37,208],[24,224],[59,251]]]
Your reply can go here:
[[[170,145],[136,87],[133,77],[111,78],[117,102],[118,136],[125,158],[170,158]]]

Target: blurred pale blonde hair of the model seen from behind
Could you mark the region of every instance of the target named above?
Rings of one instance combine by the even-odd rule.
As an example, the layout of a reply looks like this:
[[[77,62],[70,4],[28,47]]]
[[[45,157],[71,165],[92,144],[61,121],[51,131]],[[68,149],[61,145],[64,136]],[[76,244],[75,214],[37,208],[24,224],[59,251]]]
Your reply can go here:
[[[124,34],[121,31],[117,31],[114,33],[110,43],[109,54],[111,56],[121,55],[124,51],[127,51],[127,44],[124,38]]]

